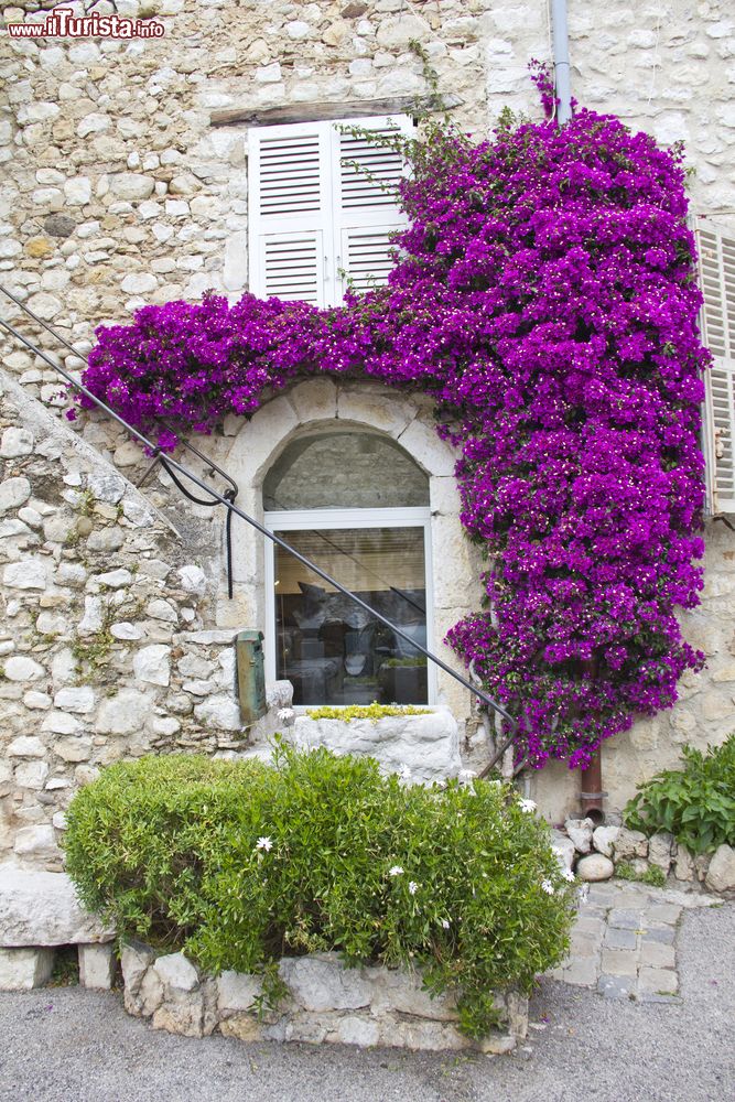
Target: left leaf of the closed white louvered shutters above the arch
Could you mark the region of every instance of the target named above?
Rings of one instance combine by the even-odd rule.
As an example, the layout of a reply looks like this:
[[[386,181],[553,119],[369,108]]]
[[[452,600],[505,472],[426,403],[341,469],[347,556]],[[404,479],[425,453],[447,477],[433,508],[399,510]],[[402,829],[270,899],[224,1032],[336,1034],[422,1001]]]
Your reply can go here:
[[[250,291],[327,305],[332,153],[321,123],[249,133]],[[325,258],[327,262],[325,262]]]

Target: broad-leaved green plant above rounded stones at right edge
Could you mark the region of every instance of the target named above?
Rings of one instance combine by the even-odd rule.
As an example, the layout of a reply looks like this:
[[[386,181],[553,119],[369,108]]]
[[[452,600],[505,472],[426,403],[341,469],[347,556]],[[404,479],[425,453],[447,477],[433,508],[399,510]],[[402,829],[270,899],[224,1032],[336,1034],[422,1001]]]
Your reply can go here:
[[[735,845],[735,734],[706,753],[684,746],[683,769],[664,769],[639,786],[623,812],[645,834],[669,831],[692,853]]]

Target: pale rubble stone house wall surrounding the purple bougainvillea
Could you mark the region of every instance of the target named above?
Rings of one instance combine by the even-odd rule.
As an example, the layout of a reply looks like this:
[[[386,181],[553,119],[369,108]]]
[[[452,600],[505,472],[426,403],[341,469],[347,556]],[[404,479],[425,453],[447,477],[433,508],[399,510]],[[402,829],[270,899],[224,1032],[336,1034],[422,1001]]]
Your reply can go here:
[[[118,0],[123,15],[141,7]],[[96,325],[126,322],[145,302],[197,299],[207,288],[237,296],[246,288],[247,128],[213,127],[214,110],[424,94],[421,63],[409,48],[417,39],[440,88],[463,99],[455,115],[468,130],[485,133],[506,104],[539,115],[526,66],[531,56],[550,56],[545,0],[144,7],[164,21],[164,39],[0,39],[0,282],[80,353]],[[735,227],[728,7],[725,0],[635,9],[572,2],[570,33],[580,101],[616,111],[662,141],[683,138],[695,169],[695,212]],[[20,14],[20,8],[3,11]],[[2,305],[43,347],[60,352]],[[122,476],[138,480],[147,461],[101,418],[60,426],[57,435],[52,415],[66,402],[57,377],[18,346],[2,348],[14,382],[3,406],[3,428],[12,431],[0,490],[7,564],[0,844],[8,847],[25,831],[19,855],[53,866],[52,819],[99,765],[148,748],[231,748],[231,658],[220,662],[220,650],[234,625],[262,626],[250,616],[261,575],[257,561],[248,568],[242,557],[246,576],[236,601],[225,601],[221,518],[182,507],[161,472],[149,475],[144,498],[137,494]],[[63,358],[72,371],[83,366],[79,356]],[[299,415],[298,402],[288,404]],[[240,429],[229,423],[205,450],[227,457]],[[292,425],[275,429],[285,440]],[[440,628],[458,618],[476,585],[472,550],[442,519],[445,507],[432,500],[453,572],[443,563],[435,570],[457,596],[440,609]],[[735,727],[735,552],[721,525],[711,523],[706,538],[704,602],[682,623],[709,668],[687,676],[671,713],[637,723],[605,748],[613,808],[636,781],[674,764],[682,742],[704,745]],[[461,730],[471,719],[463,749],[469,764],[482,765],[486,746],[482,728],[473,733],[466,694],[451,703]],[[563,767],[534,776],[531,787],[552,819],[577,810],[577,777]]]

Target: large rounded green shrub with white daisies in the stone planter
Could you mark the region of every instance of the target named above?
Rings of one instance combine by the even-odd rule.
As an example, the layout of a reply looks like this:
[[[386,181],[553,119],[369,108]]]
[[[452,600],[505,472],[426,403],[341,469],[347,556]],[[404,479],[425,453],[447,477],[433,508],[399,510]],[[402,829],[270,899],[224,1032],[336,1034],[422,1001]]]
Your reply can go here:
[[[67,868],[121,934],[210,972],[338,950],[421,965],[458,993],[461,1028],[495,990],[529,991],[568,948],[573,890],[512,789],[402,786],[370,758],[280,746],[277,767],[142,758],[74,798]]]

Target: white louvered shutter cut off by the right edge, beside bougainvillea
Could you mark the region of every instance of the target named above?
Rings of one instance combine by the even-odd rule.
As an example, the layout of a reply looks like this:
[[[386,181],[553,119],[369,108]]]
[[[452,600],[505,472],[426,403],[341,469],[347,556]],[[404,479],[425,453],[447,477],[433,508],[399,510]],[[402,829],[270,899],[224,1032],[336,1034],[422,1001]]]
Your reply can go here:
[[[696,228],[704,305],[702,335],[714,360],[705,377],[704,447],[713,514],[735,512],[735,235],[705,219]]]

